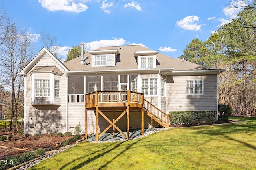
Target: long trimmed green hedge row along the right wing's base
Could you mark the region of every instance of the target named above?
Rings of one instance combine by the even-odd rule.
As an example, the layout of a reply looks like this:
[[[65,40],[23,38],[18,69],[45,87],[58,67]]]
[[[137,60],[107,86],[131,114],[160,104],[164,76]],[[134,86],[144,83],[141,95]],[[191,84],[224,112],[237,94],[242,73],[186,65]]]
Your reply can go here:
[[[169,112],[169,119],[171,125],[190,125],[193,123],[216,121],[216,111],[173,111]]]

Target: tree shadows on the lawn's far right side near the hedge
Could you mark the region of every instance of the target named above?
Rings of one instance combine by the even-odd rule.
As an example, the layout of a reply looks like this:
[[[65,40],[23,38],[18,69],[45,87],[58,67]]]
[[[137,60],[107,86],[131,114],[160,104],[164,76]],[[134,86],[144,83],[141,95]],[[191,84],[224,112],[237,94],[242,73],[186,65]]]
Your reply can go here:
[[[230,136],[228,136],[228,134],[248,134],[248,135],[252,135],[252,133],[256,133],[256,128],[254,124],[250,124],[250,123],[235,123],[235,124],[228,124],[228,125],[220,125],[217,128],[216,127],[200,127],[200,129],[196,130],[196,132],[193,132],[195,134],[207,134],[207,135],[220,135],[223,136],[225,138],[227,138],[228,140],[233,140],[235,142],[239,142],[249,148],[252,148],[254,150],[256,150],[256,146],[249,144],[247,142],[244,142],[242,140],[237,140],[234,139]]]

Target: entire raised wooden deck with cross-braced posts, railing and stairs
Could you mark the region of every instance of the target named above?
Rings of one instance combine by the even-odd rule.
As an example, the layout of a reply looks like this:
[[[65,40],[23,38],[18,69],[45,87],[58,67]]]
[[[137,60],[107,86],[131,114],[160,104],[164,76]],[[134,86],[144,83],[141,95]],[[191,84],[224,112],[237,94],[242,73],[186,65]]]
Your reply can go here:
[[[162,112],[160,109],[144,100],[144,93],[135,91],[94,91],[84,95],[85,102],[85,128],[87,138],[87,111],[96,111],[96,141],[105,132],[112,127],[113,137],[115,130],[123,134],[129,140],[129,111],[141,112],[141,132],[144,130],[144,113],[151,117],[151,124],[153,127],[153,120],[158,122],[163,127],[169,127],[169,115]],[[112,120],[108,119],[102,111],[112,111]],[[115,111],[123,111],[122,114],[115,119]],[[102,115],[110,125],[98,135],[98,114]],[[127,135],[120,130],[115,123],[124,115],[126,115]]]

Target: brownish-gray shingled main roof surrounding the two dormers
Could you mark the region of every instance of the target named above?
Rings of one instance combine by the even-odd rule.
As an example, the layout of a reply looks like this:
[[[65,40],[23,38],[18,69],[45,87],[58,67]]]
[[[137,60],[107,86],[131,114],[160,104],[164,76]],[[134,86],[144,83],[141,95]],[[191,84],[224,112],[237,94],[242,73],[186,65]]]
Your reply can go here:
[[[135,51],[153,51],[141,45],[127,45],[127,46],[114,46],[114,47],[100,47],[99,50],[117,49],[120,53],[116,58],[116,65],[111,67],[92,67],[92,55],[89,53],[84,54],[87,65],[80,64],[80,57],[72,59],[64,65],[70,71],[86,71],[86,70],[124,70],[124,69],[138,69],[136,57],[134,57]],[[156,54],[156,68],[174,68],[174,71],[188,71],[188,70],[206,70],[205,67],[200,65],[182,61],[182,59],[174,59],[167,55],[158,53]]]

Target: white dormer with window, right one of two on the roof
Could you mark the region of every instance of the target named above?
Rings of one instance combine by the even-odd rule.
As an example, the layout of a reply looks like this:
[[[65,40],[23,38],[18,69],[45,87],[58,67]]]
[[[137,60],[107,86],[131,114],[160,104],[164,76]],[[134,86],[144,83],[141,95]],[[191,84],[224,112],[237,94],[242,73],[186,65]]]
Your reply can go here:
[[[157,51],[135,51],[134,56],[137,57],[139,69],[156,68]]]

